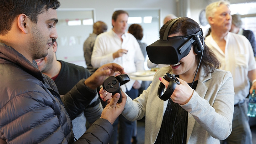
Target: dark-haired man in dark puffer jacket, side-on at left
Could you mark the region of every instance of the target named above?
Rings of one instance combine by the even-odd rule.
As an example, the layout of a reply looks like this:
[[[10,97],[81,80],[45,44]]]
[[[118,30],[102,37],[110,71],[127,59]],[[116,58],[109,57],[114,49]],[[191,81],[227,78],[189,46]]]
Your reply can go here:
[[[55,83],[34,59],[46,56],[57,39],[58,0],[4,0],[0,3],[0,143],[73,143],[71,120],[94,98],[96,88],[116,71],[115,63],[100,67],[60,97]],[[120,94],[101,118],[75,143],[108,143],[113,122],[124,109]]]

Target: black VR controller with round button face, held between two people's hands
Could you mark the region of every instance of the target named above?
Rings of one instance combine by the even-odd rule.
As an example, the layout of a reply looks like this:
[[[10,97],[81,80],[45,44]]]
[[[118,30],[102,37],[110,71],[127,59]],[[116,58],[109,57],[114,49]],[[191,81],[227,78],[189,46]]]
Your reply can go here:
[[[105,79],[105,81],[102,84],[102,87],[105,91],[112,93],[114,95],[115,93],[120,93],[120,98],[117,103],[122,102],[122,94],[120,90],[120,86],[129,82],[130,78],[127,74],[120,74],[119,76],[109,76]]]

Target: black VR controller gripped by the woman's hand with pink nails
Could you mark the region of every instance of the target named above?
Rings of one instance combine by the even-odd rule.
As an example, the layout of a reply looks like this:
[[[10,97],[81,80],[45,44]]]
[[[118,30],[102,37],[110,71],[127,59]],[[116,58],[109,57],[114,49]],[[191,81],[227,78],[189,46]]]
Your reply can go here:
[[[158,98],[166,101],[170,98],[170,96],[173,94],[174,89],[176,88],[177,84],[180,84],[179,80],[174,77],[173,75],[166,73],[163,78],[169,82],[169,85],[166,89],[166,91],[163,93],[165,85],[160,82],[158,91],[157,91],[157,96]]]

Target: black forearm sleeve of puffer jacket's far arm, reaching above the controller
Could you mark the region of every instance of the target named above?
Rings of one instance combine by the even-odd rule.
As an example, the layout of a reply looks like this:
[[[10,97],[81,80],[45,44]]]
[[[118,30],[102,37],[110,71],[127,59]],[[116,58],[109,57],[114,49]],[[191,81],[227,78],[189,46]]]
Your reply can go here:
[[[97,94],[96,89],[92,90],[84,84],[85,79],[80,80],[61,100],[71,120],[80,115]]]

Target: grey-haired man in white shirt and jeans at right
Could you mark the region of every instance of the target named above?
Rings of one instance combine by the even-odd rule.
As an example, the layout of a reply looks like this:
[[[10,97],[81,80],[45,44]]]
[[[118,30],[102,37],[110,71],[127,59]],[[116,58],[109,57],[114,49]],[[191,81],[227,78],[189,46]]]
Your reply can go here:
[[[229,32],[232,24],[229,2],[219,1],[206,7],[206,18],[211,25],[211,34],[205,44],[221,61],[221,69],[230,71],[234,79],[234,115],[232,132],[227,143],[250,144],[252,134],[248,123],[248,106],[245,102],[249,90],[256,89],[256,63],[250,42],[243,35]],[[250,88],[249,81],[253,82]],[[221,141],[223,142],[223,141]]]

